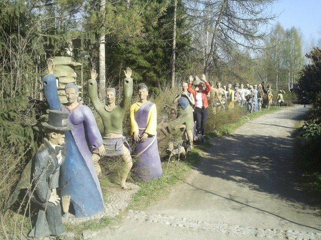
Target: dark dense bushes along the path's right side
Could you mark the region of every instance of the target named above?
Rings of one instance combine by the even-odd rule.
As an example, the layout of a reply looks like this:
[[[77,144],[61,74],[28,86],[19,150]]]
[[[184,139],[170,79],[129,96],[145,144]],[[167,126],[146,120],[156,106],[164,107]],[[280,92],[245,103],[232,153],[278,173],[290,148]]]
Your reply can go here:
[[[302,127],[300,145],[297,158],[300,161],[304,176],[316,191],[321,195],[321,50],[317,47],[306,55],[311,64],[301,71],[301,78],[294,92],[304,104],[312,104],[313,110],[309,113]]]

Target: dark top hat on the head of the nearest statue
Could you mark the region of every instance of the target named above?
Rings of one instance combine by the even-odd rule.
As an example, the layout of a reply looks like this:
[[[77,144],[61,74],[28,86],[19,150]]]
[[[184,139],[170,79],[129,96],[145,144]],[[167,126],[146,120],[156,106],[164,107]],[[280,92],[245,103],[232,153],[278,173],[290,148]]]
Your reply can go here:
[[[49,110],[48,122],[42,123],[42,126],[48,129],[58,131],[72,130],[73,127],[68,124],[68,112],[58,110]]]

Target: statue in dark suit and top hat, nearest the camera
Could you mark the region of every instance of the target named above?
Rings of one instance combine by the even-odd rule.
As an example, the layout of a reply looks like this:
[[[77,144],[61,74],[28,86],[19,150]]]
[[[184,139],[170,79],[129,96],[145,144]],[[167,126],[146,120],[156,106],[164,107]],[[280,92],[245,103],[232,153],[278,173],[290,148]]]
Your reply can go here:
[[[68,124],[68,113],[56,110],[49,111],[49,120],[42,125],[46,137],[9,199],[9,205],[12,205],[24,189],[32,203],[39,208],[36,223],[29,233],[29,237],[35,238],[60,236],[65,232],[57,188],[60,166],[66,158],[64,131],[72,129]]]

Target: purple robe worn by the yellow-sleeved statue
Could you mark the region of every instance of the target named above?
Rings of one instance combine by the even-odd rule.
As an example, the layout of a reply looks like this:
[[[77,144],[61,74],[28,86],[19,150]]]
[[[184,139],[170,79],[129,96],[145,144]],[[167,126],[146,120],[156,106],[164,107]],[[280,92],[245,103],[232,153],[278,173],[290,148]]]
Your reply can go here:
[[[148,125],[148,113],[154,103],[143,104],[136,112],[139,135],[141,136]],[[135,148],[136,176],[141,181],[159,178],[162,175],[161,158],[158,151],[157,135],[147,137],[144,142],[138,142]]]

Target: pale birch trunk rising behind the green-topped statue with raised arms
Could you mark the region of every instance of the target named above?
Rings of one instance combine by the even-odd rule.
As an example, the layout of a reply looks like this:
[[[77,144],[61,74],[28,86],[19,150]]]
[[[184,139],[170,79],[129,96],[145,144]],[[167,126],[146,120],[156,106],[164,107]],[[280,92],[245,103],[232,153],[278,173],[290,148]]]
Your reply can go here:
[[[105,16],[106,0],[100,0],[100,10]],[[99,97],[100,100],[105,102],[105,88],[106,88],[106,61],[105,61],[105,34],[100,36],[99,45]]]

